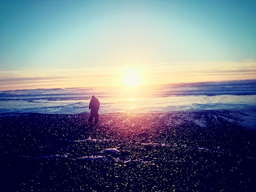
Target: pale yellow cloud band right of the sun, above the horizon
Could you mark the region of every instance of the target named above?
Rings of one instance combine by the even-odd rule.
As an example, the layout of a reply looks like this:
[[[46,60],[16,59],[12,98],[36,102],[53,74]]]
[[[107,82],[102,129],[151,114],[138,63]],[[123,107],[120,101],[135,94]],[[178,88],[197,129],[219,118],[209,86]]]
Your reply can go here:
[[[256,78],[256,61],[188,62],[151,65],[147,81],[155,83],[245,80]]]

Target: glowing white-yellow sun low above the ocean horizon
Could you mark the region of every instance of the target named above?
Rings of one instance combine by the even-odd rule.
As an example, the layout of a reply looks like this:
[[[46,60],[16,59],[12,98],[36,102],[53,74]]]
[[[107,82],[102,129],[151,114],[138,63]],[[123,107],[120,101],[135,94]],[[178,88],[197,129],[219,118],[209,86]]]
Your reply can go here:
[[[132,87],[139,85],[141,83],[141,78],[137,69],[127,69],[123,78],[123,85]]]

